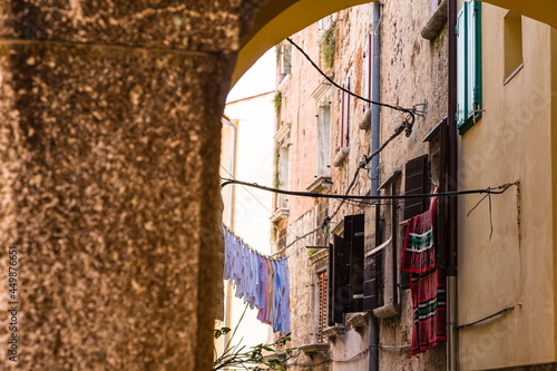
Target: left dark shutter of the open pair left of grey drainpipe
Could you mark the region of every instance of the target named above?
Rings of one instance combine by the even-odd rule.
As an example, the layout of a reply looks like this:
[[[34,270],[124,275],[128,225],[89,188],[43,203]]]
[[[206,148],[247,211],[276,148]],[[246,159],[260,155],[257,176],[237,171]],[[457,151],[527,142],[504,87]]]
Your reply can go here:
[[[329,255],[329,325],[342,323],[350,306],[350,266],[345,262],[344,238],[333,235]]]

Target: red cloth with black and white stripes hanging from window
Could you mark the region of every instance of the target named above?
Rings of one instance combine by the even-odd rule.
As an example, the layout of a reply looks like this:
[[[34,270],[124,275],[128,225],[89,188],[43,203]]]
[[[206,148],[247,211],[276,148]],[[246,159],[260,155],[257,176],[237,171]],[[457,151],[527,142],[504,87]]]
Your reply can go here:
[[[447,340],[444,273],[437,265],[436,205],[437,197],[429,211],[410,218],[402,247],[400,270],[412,274],[412,355]]]

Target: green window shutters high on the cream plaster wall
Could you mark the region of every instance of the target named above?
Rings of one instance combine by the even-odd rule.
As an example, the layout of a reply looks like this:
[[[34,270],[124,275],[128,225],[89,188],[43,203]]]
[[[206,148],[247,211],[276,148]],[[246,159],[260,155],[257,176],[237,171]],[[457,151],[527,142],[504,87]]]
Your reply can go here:
[[[465,134],[481,116],[481,3],[466,0],[457,20],[457,126]]]

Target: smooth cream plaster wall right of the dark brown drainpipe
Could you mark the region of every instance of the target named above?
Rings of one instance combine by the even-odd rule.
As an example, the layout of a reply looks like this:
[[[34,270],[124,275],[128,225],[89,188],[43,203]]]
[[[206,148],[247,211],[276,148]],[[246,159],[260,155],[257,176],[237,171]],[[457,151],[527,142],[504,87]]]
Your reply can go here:
[[[469,217],[459,199],[458,322],[515,310],[459,332],[461,370],[555,361],[550,28],[522,17],[524,69],[504,86],[504,17],[482,6],[483,117],[460,136],[459,189],[520,180]]]

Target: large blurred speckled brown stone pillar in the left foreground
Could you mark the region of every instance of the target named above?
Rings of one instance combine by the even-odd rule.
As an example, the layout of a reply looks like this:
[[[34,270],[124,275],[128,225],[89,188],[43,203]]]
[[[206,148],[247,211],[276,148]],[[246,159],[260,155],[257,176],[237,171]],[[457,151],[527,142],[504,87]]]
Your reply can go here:
[[[0,369],[211,369],[237,2],[0,1]]]

